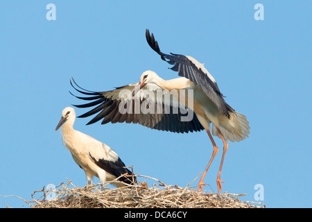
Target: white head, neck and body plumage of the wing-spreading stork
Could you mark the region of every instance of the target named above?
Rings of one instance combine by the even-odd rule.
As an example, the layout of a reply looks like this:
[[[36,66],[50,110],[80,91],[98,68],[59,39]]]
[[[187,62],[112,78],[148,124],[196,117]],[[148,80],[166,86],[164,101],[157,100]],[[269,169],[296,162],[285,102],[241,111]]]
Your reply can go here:
[[[164,80],[160,78],[154,71],[144,71],[140,78],[140,87],[144,88],[147,84],[155,83],[161,89],[185,89],[193,90],[193,111],[196,113],[198,120],[204,126],[205,129],[209,129],[209,124],[213,123],[212,133],[220,137],[216,128],[219,128],[225,140],[231,142],[240,142],[248,137],[249,129],[248,121],[243,114],[232,110],[229,112],[229,117],[223,115],[218,107],[207,97],[201,87],[198,87],[195,83],[189,79],[181,77],[171,80]],[[177,92],[180,92],[177,90]],[[180,96],[177,94],[177,96]],[[179,98],[175,98],[176,103],[180,101]],[[189,104],[178,104],[179,107]]]

